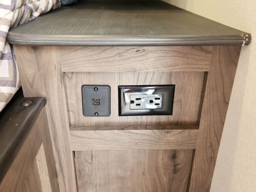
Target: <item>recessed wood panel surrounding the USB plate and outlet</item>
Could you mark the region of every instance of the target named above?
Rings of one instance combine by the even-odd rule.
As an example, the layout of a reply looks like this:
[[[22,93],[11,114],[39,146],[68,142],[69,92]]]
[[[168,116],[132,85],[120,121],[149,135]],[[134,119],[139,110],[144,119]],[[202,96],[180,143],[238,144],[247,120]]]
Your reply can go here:
[[[76,72],[64,73],[71,126],[196,124],[204,72]],[[111,115],[85,117],[83,84],[110,85]],[[175,84],[172,116],[118,116],[118,85]]]

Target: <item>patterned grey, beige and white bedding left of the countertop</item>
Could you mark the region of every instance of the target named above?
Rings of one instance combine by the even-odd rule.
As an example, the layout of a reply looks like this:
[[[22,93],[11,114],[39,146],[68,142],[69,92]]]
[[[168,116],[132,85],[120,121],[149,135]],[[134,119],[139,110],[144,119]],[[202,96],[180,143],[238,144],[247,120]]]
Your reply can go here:
[[[58,7],[60,0],[0,0],[0,111],[20,88],[15,55],[5,41],[9,28]]]

